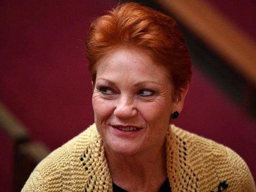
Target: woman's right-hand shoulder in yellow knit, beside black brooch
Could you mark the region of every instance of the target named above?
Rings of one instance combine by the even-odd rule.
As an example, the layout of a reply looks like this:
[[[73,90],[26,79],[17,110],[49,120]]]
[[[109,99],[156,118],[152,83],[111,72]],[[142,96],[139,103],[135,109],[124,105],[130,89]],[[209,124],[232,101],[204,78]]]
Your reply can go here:
[[[245,161],[230,148],[171,125],[176,143],[186,149],[186,160],[198,175],[198,183],[217,191],[226,180],[227,191],[256,192],[255,183]],[[216,184],[215,184],[216,183]],[[214,187],[215,186],[215,187]],[[202,188],[202,191],[208,188]]]

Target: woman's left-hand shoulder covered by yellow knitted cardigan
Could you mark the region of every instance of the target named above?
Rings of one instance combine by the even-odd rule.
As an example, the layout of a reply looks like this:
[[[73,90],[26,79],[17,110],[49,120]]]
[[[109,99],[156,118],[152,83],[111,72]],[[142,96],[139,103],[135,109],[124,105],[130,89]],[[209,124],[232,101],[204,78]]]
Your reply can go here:
[[[49,191],[52,187],[63,190],[65,186],[72,186],[72,177],[79,174],[79,169],[73,170],[74,163],[79,163],[77,159],[80,159],[87,146],[97,139],[96,127],[93,125],[52,151],[36,166],[22,191]]]

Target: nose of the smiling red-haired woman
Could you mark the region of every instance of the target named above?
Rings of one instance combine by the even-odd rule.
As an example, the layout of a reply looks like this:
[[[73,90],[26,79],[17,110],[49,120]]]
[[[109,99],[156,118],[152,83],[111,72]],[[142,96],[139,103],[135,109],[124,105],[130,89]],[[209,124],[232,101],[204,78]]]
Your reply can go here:
[[[134,102],[131,99],[121,96],[117,100],[114,114],[121,119],[127,119],[136,116],[137,109],[135,108]]]

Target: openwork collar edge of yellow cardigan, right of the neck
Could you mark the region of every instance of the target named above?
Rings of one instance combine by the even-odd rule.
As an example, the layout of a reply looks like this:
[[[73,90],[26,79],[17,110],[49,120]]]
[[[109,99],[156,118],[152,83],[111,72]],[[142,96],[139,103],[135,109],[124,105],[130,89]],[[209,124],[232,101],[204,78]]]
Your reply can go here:
[[[172,192],[194,191],[198,186],[198,178],[187,161],[193,148],[181,129],[171,125],[166,134],[167,175]],[[190,156],[191,157],[191,156]],[[182,185],[180,185],[182,183]],[[192,190],[194,189],[194,190]]]

